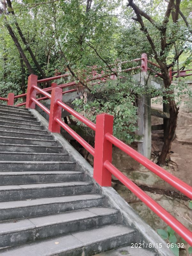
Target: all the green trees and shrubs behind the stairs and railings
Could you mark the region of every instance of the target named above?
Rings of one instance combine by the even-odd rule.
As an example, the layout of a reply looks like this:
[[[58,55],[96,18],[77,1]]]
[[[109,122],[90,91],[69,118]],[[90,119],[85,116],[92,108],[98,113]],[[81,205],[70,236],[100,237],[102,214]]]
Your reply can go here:
[[[191,68],[191,10],[188,0],[2,0],[0,96],[10,91],[24,93],[30,73],[44,78],[54,75],[55,69],[65,73],[68,68],[71,80],[78,80],[80,89],[92,95],[85,102],[77,99],[77,110],[83,109],[92,120],[102,111],[113,114],[115,134],[131,142],[136,129],[138,92],[132,89],[130,80],[122,83],[122,73],[116,72],[117,85],[106,82],[105,91],[98,98],[95,87],[85,81],[81,71],[90,75],[87,66],[97,65],[100,71],[112,72],[109,64],[116,60],[130,60],[122,69],[137,66],[140,63],[131,60],[146,52],[148,59],[160,66],[151,66],[150,72],[161,73],[166,88],[164,101],[169,104],[170,121],[159,159],[164,164],[169,159],[179,111],[168,70],[174,68],[180,73]],[[183,86],[177,86],[177,90],[191,96]]]

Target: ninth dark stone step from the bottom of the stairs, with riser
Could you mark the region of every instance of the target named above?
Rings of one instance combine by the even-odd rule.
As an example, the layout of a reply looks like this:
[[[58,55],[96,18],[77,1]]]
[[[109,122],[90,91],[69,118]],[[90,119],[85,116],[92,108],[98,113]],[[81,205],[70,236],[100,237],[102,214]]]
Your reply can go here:
[[[0,143],[0,151],[4,152],[35,152],[35,153],[61,153],[60,146],[39,146],[39,145],[22,145]]]

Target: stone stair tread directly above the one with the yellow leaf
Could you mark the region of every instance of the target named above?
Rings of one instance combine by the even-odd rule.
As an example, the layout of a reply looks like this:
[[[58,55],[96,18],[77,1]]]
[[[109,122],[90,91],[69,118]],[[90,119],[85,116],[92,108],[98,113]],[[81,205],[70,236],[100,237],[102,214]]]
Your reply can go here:
[[[11,234],[22,230],[41,228],[59,223],[84,220],[88,218],[116,214],[119,211],[107,207],[93,207],[80,210],[55,213],[51,215],[30,217],[0,222],[0,235]]]

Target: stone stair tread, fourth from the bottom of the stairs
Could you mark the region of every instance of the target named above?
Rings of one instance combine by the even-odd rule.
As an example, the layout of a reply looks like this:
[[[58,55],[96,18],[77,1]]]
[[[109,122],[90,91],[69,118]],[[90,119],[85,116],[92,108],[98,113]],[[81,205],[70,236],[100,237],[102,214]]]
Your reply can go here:
[[[86,194],[69,195],[69,196],[41,197],[41,198],[35,198],[31,200],[25,199],[25,200],[15,200],[15,201],[3,201],[3,202],[0,202],[0,210],[45,205],[45,204],[85,201],[85,200],[99,199],[104,197],[105,196],[100,194],[86,193]]]

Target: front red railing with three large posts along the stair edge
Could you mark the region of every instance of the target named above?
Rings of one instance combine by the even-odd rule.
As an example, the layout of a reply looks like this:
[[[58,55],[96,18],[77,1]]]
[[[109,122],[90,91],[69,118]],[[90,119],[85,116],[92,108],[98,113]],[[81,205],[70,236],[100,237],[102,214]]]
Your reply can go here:
[[[145,60],[144,60],[145,61]],[[37,92],[51,99],[50,110],[36,99]],[[145,156],[142,156],[136,150],[126,145],[123,141],[118,140],[112,135],[113,133],[113,116],[106,113],[97,115],[96,124],[89,119],[77,113],[74,109],[62,102],[62,89],[55,87],[52,89],[52,94],[45,92],[37,87],[37,76],[31,75],[28,79],[28,92],[26,108],[35,108],[37,104],[49,115],[49,131],[60,132],[60,127],[63,127],[74,139],[76,139],[92,156],[94,156],[93,178],[101,186],[111,186],[111,175],[113,174],[120,180],[128,189],[130,189],[140,200],[145,203],[153,212],[155,212],[162,220],[167,223],[175,232],[177,232],[188,244],[192,245],[192,233],[161,205],[154,201],[148,194],[142,191],[128,177],[120,172],[112,162],[112,145],[115,145],[126,154],[142,164],[148,170],[155,173],[164,181],[172,185],[184,195],[192,199],[192,187],[181,181],[171,173],[164,170],[162,167],[150,161]],[[86,126],[95,131],[95,147],[93,148],[80,135],[73,131],[67,124],[61,120],[61,109],[65,109],[71,115],[83,122]]]

